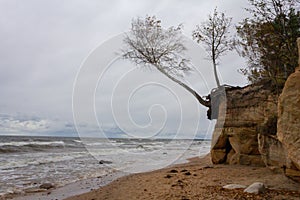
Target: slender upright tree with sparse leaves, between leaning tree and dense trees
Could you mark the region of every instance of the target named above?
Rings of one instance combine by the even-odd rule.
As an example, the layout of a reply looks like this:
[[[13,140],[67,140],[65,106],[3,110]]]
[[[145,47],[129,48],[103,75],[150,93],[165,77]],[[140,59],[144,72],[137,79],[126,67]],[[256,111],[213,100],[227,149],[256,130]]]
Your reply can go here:
[[[215,8],[213,14],[208,16],[208,20],[200,26],[198,25],[196,30],[193,31],[193,38],[198,43],[205,45],[205,49],[213,62],[214,75],[218,87],[220,87],[220,81],[217,74],[217,65],[219,58],[231,46],[231,39],[229,37],[231,20],[224,13],[218,13]]]

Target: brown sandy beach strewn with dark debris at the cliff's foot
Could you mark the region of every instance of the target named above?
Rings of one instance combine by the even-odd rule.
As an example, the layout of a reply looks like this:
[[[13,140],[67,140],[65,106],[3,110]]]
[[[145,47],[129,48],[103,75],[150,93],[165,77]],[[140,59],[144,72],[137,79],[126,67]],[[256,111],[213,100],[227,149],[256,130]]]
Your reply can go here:
[[[265,193],[246,194],[243,189],[222,188],[257,181],[266,185]],[[263,167],[212,165],[206,156],[187,164],[122,177],[100,189],[68,198],[92,199],[300,199],[300,184]]]

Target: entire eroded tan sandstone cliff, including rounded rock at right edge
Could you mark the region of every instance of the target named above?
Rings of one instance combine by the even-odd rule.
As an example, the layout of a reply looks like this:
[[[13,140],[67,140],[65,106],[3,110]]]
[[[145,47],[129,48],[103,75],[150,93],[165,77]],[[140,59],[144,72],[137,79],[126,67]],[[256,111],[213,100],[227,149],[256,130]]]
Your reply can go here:
[[[279,98],[272,88],[226,88],[218,101],[212,161],[267,166],[300,181],[300,57]]]

